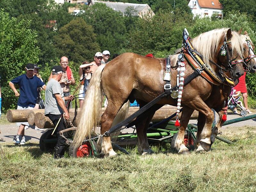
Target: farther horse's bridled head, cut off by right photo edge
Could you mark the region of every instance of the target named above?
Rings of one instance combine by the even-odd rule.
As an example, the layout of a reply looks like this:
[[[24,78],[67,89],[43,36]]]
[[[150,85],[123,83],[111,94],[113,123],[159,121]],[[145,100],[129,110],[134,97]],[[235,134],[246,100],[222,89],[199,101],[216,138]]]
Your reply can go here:
[[[248,33],[244,31],[244,35],[241,35],[242,41],[244,42],[243,58],[245,68],[249,70],[250,73],[256,72],[256,55],[254,54],[255,46],[252,43],[251,38]]]

